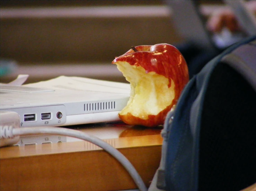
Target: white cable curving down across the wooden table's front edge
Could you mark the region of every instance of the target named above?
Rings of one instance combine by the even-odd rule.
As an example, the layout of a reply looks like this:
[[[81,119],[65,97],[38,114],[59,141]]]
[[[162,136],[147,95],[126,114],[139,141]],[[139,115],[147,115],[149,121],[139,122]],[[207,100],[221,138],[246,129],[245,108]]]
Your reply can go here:
[[[8,130],[12,132],[8,132]],[[145,186],[143,180],[141,179],[139,173],[133,167],[131,162],[117,149],[106,143],[105,141],[94,137],[92,135],[88,135],[78,130],[60,128],[60,127],[44,127],[44,128],[5,128],[5,131],[0,131],[0,139],[5,138],[5,134],[10,137],[11,135],[18,136],[18,135],[28,135],[28,134],[55,134],[55,135],[64,135],[69,137],[74,137],[78,139],[82,139],[85,141],[89,141],[97,146],[101,147],[109,154],[111,154],[116,160],[118,160],[124,168],[129,172],[131,177],[133,178],[135,184],[138,186],[140,191],[147,191],[147,187]],[[8,138],[6,137],[6,138]]]

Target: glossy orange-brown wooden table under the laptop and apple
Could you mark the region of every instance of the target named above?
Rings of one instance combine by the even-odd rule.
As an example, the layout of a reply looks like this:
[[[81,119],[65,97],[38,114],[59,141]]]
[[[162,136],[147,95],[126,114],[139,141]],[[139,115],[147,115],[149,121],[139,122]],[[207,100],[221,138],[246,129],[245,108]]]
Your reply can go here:
[[[87,132],[102,128],[69,127]],[[161,129],[125,127],[118,138],[105,139],[134,165],[149,186],[161,158]],[[0,149],[0,190],[128,190],[132,178],[110,154],[86,141],[5,147]]]

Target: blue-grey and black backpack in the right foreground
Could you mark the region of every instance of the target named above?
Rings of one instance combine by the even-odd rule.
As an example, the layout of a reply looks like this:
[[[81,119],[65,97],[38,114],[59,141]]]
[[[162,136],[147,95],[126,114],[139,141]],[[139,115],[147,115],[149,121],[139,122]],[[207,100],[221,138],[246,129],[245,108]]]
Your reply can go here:
[[[241,190],[256,182],[256,36],[208,62],[162,130],[149,190]]]

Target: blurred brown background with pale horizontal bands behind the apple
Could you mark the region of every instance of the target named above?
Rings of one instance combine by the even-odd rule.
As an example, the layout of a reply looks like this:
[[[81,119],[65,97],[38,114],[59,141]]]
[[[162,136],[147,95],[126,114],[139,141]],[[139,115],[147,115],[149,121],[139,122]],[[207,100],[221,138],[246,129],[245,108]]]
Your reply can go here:
[[[223,5],[199,2],[206,19]],[[0,6],[1,66],[10,66],[0,83],[18,74],[29,74],[26,83],[61,75],[126,82],[111,64],[115,57],[131,46],[184,41],[162,0],[1,0]]]

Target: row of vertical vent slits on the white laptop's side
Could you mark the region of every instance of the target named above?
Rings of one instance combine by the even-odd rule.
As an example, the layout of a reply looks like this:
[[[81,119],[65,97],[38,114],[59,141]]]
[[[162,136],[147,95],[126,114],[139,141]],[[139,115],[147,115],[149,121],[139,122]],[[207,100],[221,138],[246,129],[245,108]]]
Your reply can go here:
[[[116,107],[115,101],[86,103],[85,111],[109,110],[109,109],[115,109],[115,107]]]

